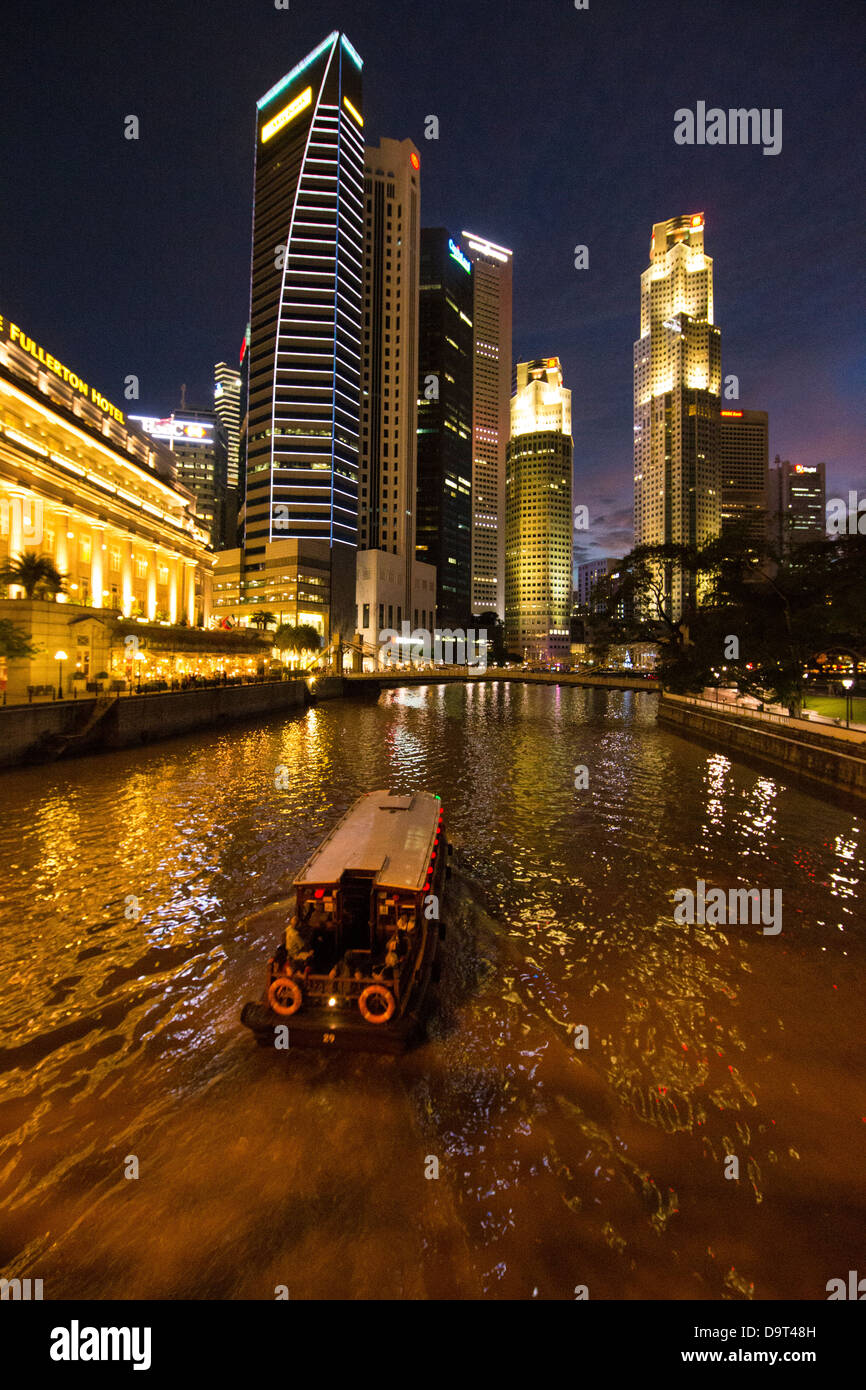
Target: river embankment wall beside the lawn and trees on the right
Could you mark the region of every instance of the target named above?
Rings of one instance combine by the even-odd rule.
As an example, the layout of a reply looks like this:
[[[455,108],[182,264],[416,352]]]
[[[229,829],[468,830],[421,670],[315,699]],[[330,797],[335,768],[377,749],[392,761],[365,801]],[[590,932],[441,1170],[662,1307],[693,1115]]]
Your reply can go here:
[[[833,799],[866,805],[866,735],[740,709],[714,710],[681,695],[663,695],[662,727],[723,749],[740,762],[777,773]]]

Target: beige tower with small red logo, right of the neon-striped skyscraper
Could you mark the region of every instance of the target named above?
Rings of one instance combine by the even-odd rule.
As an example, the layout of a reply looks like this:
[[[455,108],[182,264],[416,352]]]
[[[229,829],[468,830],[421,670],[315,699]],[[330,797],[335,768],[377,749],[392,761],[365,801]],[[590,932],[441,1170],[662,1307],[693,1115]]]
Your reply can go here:
[[[435,570],[416,559],[420,170],[411,140],[367,149],[359,545],[381,553],[357,566],[366,646],[413,613],[435,621]],[[393,621],[379,624],[389,613]]]

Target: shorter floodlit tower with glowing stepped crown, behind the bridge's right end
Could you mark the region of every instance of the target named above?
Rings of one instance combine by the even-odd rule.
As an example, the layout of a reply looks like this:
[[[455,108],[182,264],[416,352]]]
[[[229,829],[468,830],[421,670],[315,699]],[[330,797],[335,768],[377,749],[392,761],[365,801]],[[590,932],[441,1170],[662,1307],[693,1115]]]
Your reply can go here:
[[[571,392],[559,357],[517,364],[505,481],[505,628],[509,652],[570,656]]]

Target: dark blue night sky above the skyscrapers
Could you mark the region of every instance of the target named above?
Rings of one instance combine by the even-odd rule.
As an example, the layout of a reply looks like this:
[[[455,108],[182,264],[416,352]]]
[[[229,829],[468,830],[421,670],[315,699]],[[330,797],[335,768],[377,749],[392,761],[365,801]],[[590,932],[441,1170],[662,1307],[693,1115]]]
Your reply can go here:
[[[862,0],[7,7],[0,311],[132,413],[181,382],[210,406],[249,317],[256,99],[336,28],[368,140],[421,152],[423,224],[514,250],[514,357],[559,354],[574,393],[577,559],[631,543],[639,275],[680,213],[706,214],[730,404],[769,410],[770,460],[826,460],[828,495],[866,484]],[[781,153],[677,146],[699,100],[781,107]]]

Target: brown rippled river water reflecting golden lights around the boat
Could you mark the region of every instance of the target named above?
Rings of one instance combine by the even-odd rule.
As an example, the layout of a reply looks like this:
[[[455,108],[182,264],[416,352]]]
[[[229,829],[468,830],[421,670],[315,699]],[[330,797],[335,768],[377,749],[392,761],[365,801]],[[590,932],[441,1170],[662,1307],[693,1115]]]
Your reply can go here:
[[[240,923],[374,787],[438,792],[457,844],[431,1038],[260,1049],[272,941]],[[865,1272],[860,819],[657,730],[651,695],[392,691],[0,794],[1,1275],[812,1300]],[[696,878],[781,888],[783,933],[676,926]]]

